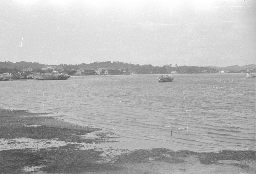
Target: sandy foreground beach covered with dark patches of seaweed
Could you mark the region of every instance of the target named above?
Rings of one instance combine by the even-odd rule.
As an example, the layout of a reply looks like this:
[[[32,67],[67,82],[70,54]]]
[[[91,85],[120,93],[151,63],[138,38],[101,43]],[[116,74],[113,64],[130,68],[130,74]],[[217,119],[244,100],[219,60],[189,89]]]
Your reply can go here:
[[[132,143],[63,115],[0,108],[3,174],[255,173],[255,151],[134,149]]]

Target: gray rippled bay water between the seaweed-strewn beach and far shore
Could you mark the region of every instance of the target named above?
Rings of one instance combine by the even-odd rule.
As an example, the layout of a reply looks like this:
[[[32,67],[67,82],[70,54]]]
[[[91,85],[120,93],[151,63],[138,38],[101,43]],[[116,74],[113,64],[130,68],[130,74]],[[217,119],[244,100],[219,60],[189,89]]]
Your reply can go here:
[[[158,76],[0,82],[0,105],[62,112],[120,136],[179,150],[255,150],[255,78],[178,74],[174,82],[159,83]]]

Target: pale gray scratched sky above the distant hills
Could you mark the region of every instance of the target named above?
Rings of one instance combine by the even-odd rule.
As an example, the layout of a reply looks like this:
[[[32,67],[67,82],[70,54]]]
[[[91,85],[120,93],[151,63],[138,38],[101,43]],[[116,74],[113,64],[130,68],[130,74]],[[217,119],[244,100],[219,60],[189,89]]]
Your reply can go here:
[[[0,61],[256,63],[255,0],[0,0]]]

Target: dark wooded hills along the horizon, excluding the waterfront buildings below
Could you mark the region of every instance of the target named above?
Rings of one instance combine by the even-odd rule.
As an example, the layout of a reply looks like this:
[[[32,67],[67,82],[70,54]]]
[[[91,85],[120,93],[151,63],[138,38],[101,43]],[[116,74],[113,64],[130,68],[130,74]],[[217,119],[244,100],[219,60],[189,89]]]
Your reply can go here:
[[[67,64],[60,64],[60,65],[47,65],[47,64],[40,64],[37,62],[0,62],[0,74],[12,71],[13,72],[22,72],[24,68],[32,68],[35,72],[41,70],[44,67],[62,67],[64,71],[68,72],[70,70],[77,70],[80,68],[115,68],[130,71],[130,73],[138,73],[138,74],[169,74],[171,71],[177,71],[177,73],[216,73],[219,70],[223,71],[239,71],[243,69],[255,69],[256,65],[246,65],[246,66],[229,66],[229,67],[199,67],[199,66],[178,66],[176,65],[163,65],[153,66],[153,65],[138,65],[138,64],[130,64],[124,62],[93,62],[90,64],[81,63],[79,65],[67,65]],[[14,71],[13,71],[14,70]],[[122,72],[122,71],[121,71]]]

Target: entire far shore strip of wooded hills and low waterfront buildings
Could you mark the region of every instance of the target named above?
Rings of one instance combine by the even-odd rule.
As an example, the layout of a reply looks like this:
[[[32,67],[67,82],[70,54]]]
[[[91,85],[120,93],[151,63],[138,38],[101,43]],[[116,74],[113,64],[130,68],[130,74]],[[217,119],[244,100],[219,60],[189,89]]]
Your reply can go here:
[[[200,74],[200,73],[252,73],[256,65],[238,65],[229,67],[178,66],[177,64],[153,66],[135,65],[124,62],[93,62],[79,65],[44,65],[32,62],[0,62],[0,74],[35,75],[35,74],[68,74],[68,75],[130,75],[130,74]]]

